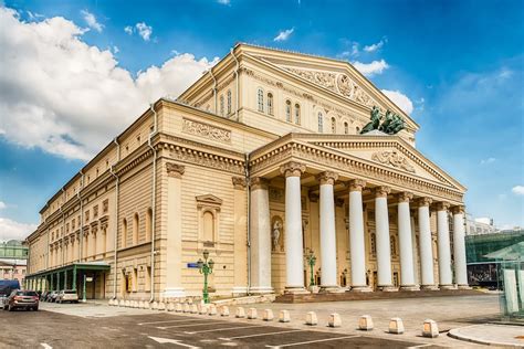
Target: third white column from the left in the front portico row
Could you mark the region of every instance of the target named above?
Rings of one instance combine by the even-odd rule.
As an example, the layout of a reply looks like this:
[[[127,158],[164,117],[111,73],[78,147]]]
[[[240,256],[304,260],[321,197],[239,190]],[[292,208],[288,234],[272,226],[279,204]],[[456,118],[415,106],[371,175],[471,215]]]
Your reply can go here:
[[[349,253],[352,255],[352,290],[369,292],[366,284],[366,246],[364,244],[363,189],[360,179],[349,181]]]

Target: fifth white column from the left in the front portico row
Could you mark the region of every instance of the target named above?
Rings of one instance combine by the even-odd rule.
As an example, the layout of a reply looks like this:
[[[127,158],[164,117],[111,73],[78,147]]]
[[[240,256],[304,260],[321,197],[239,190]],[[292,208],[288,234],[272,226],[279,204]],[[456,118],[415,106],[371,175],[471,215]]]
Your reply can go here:
[[[400,246],[400,288],[416,290],[413,269],[413,241],[409,200],[413,194],[402,192],[398,195],[398,240]]]

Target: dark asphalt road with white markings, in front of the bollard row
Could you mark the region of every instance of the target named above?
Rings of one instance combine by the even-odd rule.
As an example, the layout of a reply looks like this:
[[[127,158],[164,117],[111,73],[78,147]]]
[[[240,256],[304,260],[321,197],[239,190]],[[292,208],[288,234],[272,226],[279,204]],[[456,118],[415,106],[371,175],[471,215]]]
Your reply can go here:
[[[217,316],[166,313],[85,318],[45,310],[0,310],[0,348],[406,348],[420,345],[337,329],[293,329],[260,319],[247,324]]]

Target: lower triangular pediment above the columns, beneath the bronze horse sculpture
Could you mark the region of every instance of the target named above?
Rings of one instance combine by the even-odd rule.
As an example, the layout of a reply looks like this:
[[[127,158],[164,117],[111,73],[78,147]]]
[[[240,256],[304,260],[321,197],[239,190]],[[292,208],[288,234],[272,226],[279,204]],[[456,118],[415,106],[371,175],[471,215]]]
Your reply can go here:
[[[376,163],[404,174],[465,191],[462,184],[398,136],[301,135],[298,138],[315,146],[359,158],[368,163]]]

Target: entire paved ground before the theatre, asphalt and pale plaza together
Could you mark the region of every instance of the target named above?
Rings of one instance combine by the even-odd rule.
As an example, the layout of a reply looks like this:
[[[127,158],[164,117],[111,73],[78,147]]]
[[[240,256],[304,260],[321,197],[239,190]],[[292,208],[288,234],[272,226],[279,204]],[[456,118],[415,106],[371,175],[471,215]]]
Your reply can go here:
[[[245,309],[259,309],[256,319],[231,315],[180,314],[107,306],[106,303],[41,304],[41,311],[0,311],[0,324],[10,325],[0,339],[2,348],[99,348],[111,343],[116,348],[153,347],[479,347],[480,345],[447,336],[452,329],[499,319],[496,295],[380,299],[366,302],[332,302],[316,304],[254,304]],[[270,308],[277,317],[282,309],[290,311],[287,324],[263,321],[262,310]],[[307,311],[315,311],[317,326],[304,324]],[[342,326],[327,327],[329,314],[338,313]],[[370,315],[373,331],[357,330],[360,315]],[[406,332],[387,332],[391,317],[404,320]],[[439,325],[440,336],[421,337],[422,321],[427,318]],[[484,334],[493,327],[485,327]],[[96,329],[95,331],[93,329]],[[495,327],[496,329],[496,327]],[[32,335],[27,336],[27,330]],[[500,334],[503,334],[502,331]],[[507,332],[512,336],[513,332]],[[493,332],[495,338],[499,332]],[[518,341],[516,341],[518,342]]]

